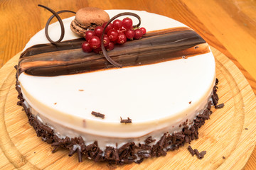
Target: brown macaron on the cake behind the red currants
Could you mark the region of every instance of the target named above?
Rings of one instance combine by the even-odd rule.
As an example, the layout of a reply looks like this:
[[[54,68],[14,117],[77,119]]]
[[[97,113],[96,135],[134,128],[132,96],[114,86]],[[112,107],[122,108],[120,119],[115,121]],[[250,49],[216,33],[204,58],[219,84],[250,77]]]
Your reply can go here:
[[[85,7],[80,8],[71,22],[70,28],[74,33],[85,37],[87,30],[94,30],[97,26],[110,20],[110,16],[101,8]]]

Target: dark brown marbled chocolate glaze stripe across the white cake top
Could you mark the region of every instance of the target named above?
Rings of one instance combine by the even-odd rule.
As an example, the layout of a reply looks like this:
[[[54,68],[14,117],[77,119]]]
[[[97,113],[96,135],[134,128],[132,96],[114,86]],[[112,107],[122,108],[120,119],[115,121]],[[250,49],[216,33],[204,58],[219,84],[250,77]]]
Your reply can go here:
[[[58,45],[36,45],[22,53],[18,74],[59,76],[115,68],[103,55],[82,52],[82,39]],[[193,30],[175,28],[148,33],[141,40],[117,45],[108,55],[123,67],[134,67],[210,52],[206,41]]]

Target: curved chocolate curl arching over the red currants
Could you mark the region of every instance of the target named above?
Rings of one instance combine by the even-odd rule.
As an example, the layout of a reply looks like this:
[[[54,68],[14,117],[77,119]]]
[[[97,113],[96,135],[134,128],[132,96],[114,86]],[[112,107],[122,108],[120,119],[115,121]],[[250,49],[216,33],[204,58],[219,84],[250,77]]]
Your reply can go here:
[[[138,23],[137,25],[133,26],[134,28],[139,27],[142,20],[141,20],[141,18],[140,18],[136,13],[130,13],[130,12],[119,13],[119,14],[117,14],[116,16],[113,16],[113,17],[110,19],[110,21],[107,22],[105,28],[103,29],[103,33],[102,33],[102,36],[101,36],[101,42],[100,42],[100,43],[101,43],[101,48],[102,48],[103,55],[105,56],[105,58],[107,59],[108,62],[110,62],[112,65],[114,65],[114,67],[120,67],[120,68],[122,68],[122,64],[119,64],[119,63],[115,62],[114,60],[112,60],[112,58],[110,58],[109,55],[107,55],[107,51],[105,50],[104,42],[103,42],[103,36],[104,36],[104,34],[105,34],[105,30],[106,30],[107,26],[108,26],[112,21],[114,21],[115,18],[118,18],[118,17],[120,17],[120,16],[135,16],[136,18],[138,18],[139,23]]]

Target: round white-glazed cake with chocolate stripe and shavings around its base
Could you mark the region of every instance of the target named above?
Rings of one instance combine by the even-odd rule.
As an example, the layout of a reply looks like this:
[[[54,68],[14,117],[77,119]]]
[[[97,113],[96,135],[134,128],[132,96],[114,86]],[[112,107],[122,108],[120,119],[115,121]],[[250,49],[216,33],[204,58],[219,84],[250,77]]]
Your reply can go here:
[[[106,12],[112,18],[127,10]],[[37,135],[54,147],[53,152],[65,147],[70,155],[78,152],[80,161],[87,157],[115,164],[139,163],[196,139],[198,128],[208,119],[210,98],[215,94],[215,60],[208,44],[174,19],[146,11],[128,12],[140,16],[147,33],[141,40],[114,50],[121,51],[119,58],[125,58],[134,50],[146,48],[138,56],[143,52],[143,56],[154,55],[153,62],[142,60],[132,66],[85,72],[80,63],[86,56],[74,59],[69,54],[75,48],[73,42],[81,41],[70,30],[74,17],[63,19],[63,43],[70,46],[54,50],[62,45],[50,46],[43,29],[24,48],[17,69],[18,104],[25,109]],[[137,18],[129,17],[138,23]],[[51,24],[48,32],[58,40],[59,23]],[[159,33],[164,33],[166,43],[156,48]],[[165,33],[171,34],[170,38]],[[141,42],[148,45],[144,47]],[[82,48],[79,50],[82,54]],[[40,57],[43,61],[38,60]],[[58,57],[63,57],[60,65],[55,62]],[[125,66],[125,61],[118,61]],[[65,67],[70,62],[80,64],[79,69],[71,72]]]

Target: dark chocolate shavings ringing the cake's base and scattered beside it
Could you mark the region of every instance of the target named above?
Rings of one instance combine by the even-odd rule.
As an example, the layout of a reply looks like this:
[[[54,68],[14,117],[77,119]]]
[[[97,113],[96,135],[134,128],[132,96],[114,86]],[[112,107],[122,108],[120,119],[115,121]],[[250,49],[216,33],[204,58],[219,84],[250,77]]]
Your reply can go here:
[[[174,151],[179,147],[182,147],[186,143],[190,143],[192,140],[198,139],[198,129],[205,123],[206,116],[201,116],[193,120],[193,125],[189,128],[188,125],[183,126],[180,132],[174,134],[164,133],[160,140],[153,139],[151,136],[144,140],[144,144],[135,145],[134,142],[127,142],[119,148],[105,147],[105,149],[100,149],[97,145],[97,141],[90,145],[85,145],[85,141],[82,137],[65,137],[60,138],[55,135],[54,130],[48,125],[44,125],[38,120],[34,115],[32,115],[30,108],[27,108],[24,104],[23,95],[21,89],[18,86],[18,80],[16,75],[16,90],[18,91],[18,106],[22,106],[27,117],[29,124],[36,131],[36,135],[41,137],[44,142],[47,142],[53,147],[52,152],[57,152],[58,149],[68,149],[69,155],[75,153],[78,154],[78,162],[82,162],[82,159],[92,159],[95,162],[108,162],[110,166],[112,164],[131,164],[135,162],[140,164],[144,159],[149,157],[162,157],[165,156],[167,151]],[[210,115],[209,101],[207,108],[203,111],[202,115]],[[214,103],[213,103],[214,105]],[[121,119],[122,120],[122,119]],[[131,119],[127,119],[132,122]],[[149,145],[151,144],[151,145]],[[206,154],[206,151],[198,152],[197,149],[192,149],[188,146],[188,151],[191,154],[196,154],[198,159],[202,159]]]

